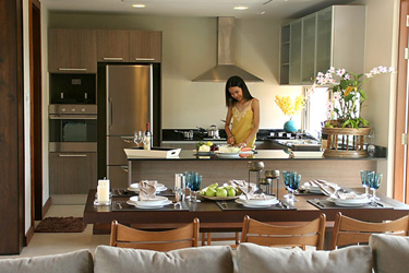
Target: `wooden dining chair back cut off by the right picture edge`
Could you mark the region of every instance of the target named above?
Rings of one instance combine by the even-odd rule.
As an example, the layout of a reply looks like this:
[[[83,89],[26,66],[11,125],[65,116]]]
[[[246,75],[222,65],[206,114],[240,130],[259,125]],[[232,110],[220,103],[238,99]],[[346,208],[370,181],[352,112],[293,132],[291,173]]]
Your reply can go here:
[[[368,244],[372,234],[408,236],[409,216],[383,223],[354,219],[338,212],[330,239],[330,249],[337,247]]]

